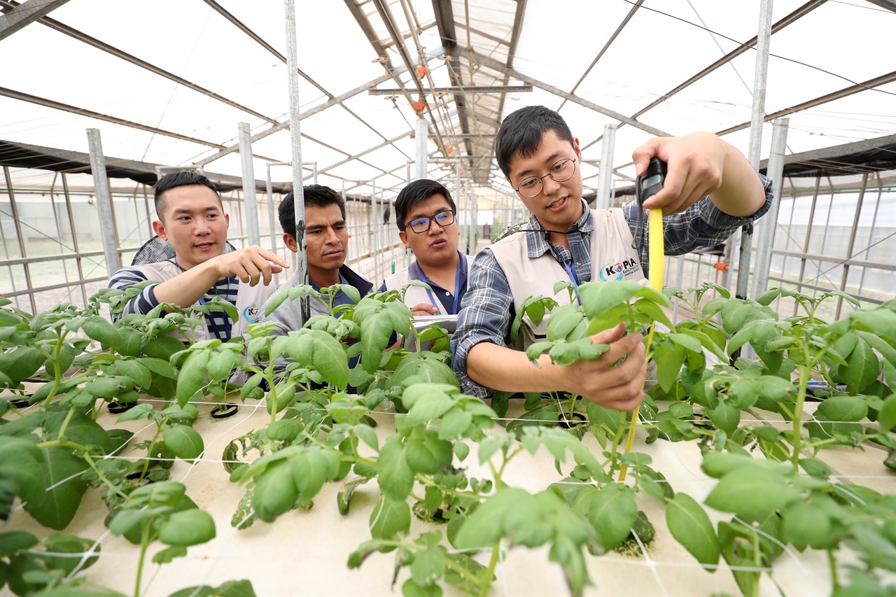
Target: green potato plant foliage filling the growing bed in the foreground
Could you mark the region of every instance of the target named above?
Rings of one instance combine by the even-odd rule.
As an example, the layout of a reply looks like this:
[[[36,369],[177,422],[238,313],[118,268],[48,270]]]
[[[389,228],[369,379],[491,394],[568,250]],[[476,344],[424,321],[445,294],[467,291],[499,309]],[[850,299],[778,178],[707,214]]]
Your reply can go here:
[[[505,424],[508,395],[483,402],[461,393],[448,334],[414,331],[404,290],[361,299],[343,286],[291,289],[273,307],[309,295],[332,315],[286,336],[253,324],[230,342],[194,342],[203,313],[236,315],[222,301],[161,305],[114,324],[101,315],[120,311],[140,290],[102,290],[85,309],[63,304],[36,316],[0,299],[0,516],[23,508],[48,529],[0,533],[0,587],[17,595],[119,594],[88,581],[99,544],[56,533],[90,487],[108,506],[109,531],[139,549],[134,595],[146,589],[144,564],[164,565],[212,541],[211,516],[169,470],[205,453],[193,428],[197,403],[236,395],[261,402],[269,417],[224,451],[221,482],[243,488],[231,524],[276,523],[312,508],[327,483],[338,484],[336,504],[317,507],[341,514],[364,507],[353,501],[359,492],[372,494],[370,537],[346,554],[348,566],[393,554],[394,577],[404,569],[408,595],[439,595],[445,585],[488,594],[506,549],[542,546],[570,593],[580,594],[600,582],[589,574],[590,558],[652,539],[657,531],[639,506],[649,501],[665,508],[666,528],[695,566],[714,572],[727,562],[732,571],[716,574],[734,575],[745,595],[758,593],[762,574],[774,579],[785,549],[826,552],[831,594],[896,594],[896,496],[840,480],[823,459],[826,448],[849,446],[886,454],[884,463],[896,468],[896,301],[858,308],[837,292],[731,299],[712,284],[684,293],[558,283],[571,304],[534,297],[513,322],[515,337],[523,316],[549,316],[546,340],[527,351],[533,367],[546,353],[562,365],[597,359],[607,347],[591,342],[593,334],[619,322],[630,332],[658,322],[648,353],[657,383],[636,420],[580,396],[526,394],[525,413]],[[339,290],[355,304],[333,308]],[[770,306],[781,297],[795,300],[800,314],[780,317]],[[695,316],[673,324],[663,310],[671,298]],[[857,308],[826,322],[816,314],[827,299]],[[400,348],[395,339],[409,334],[418,349],[426,342],[431,350]],[[736,356],[745,349],[756,358]],[[810,399],[821,401],[814,410],[806,408]],[[384,438],[375,429],[379,415],[371,416],[383,402],[397,412]],[[130,406],[118,420],[145,420],[149,433],[135,441],[125,429],[100,426],[107,404]],[[633,426],[647,443],[699,447],[702,471],[716,480],[709,495],[699,501],[676,490],[637,444],[626,451]],[[556,482],[513,486],[508,464],[539,452],[555,461]],[[469,474],[473,467],[479,477]],[[415,517],[422,522],[412,524]],[[187,594],[254,590],[234,581],[174,593]]]

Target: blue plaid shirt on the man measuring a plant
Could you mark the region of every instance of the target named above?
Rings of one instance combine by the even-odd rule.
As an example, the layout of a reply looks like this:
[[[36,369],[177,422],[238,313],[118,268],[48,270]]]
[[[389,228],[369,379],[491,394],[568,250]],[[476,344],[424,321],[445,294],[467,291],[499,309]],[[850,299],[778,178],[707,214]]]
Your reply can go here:
[[[746,223],[758,220],[769,211],[771,205],[771,180],[763,177],[765,187],[765,204],[747,218],[736,218],[722,212],[704,197],[685,212],[663,218],[663,238],[666,255],[684,255],[697,247],[714,247],[724,242],[731,233]],[[538,224],[530,220],[527,232],[527,245],[530,259],[535,259],[550,251],[557,263],[575,264],[575,275],[579,283],[591,280],[591,232],[594,223],[591,221],[590,209],[582,201],[582,217],[569,229],[566,236],[569,248],[552,245],[545,240]],[[625,219],[632,235],[636,235],[638,225],[638,205],[636,202],[623,206]],[[647,217],[642,218],[642,226],[646,228]],[[578,228],[578,232],[575,229]],[[646,234],[645,234],[646,238]],[[638,247],[638,257],[644,273],[650,271],[650,258],[646,242]],[[495,259],[491,249],[479,252],[470,266],[467,281],[467,292],[461,301],[461,313],[457,319],[457,331],[452,336],[452,352],[454,359],[452,368],[461,381],[461,388],[466,394],[486,398],[492,390],[478,385],[467,376],[467,355],[470,349],[479,342],[493,342],[506,347],[510,340],[512,322],[513,295],[504,270]]]

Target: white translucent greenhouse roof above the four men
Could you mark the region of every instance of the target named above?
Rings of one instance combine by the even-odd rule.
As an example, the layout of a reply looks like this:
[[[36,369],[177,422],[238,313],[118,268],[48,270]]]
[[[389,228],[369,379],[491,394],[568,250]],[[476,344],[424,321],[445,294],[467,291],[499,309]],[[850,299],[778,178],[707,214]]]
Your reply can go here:
[[[774,2],[764,113],[790,119],[788,152],[896,133],[896,13],[883,4]],[[597,186],[607,124],[618,125],[616,185],[630,183],[631,153],[650,134],[724,132],[746,152],[760,7],[296,2],[302,160],[316,162],[322,184],[379,179],[394,195],[423,117],[433,176],[453,176],[460,158],[475,186],[507,192],[495,133],[532,104],[569,122],[586,186]],[[267,163],[292,155],[284,14],[277,0],[179,2],[176,14],[152,0],[79,0],[12,34],[0,30],[0,140],[87,152],[85,131],[98,128],[110,157],[239,176],[233,148],[247,123],[263,179]],[[762,157],[770,143],[766,124]],[[289,169],[271,176],[289,180]]]

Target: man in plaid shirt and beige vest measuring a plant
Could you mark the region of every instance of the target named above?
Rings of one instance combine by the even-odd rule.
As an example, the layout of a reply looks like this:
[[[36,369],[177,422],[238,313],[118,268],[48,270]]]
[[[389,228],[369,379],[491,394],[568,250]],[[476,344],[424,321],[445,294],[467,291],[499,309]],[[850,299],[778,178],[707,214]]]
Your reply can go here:
[[[647,376],[642,334],[625,326],[591,336],[609,344],[599,359],[560,366],[547,355],[534,367],[524,351],[543,340],[547,316],[523,317],[517,345],[510,327],[530,296],[554,294],[556,281],[644,281],[647,243],[633,248],[638,206],[590,210],[582,200],[582,151],[563,117],[543,106],[504,118],[495,138],[498,165],[531,212],[528,225],[481,251],[470,266],[469,290],[452,336],[452,368],[467,394],[568,392],[608,408],[633,411]],[[643,207],[662,208],[667,255],[723,242],[768,211],[771,181],[757,175],[740,151],[709,133],[651,139],[633,152],[641,175],[650,158],[668,164],[665,186]],[[763,188],[764,186],[764,188]],[[642,218],[646,226],[646,218]],[[515,349],[515,350],[514,350]],[[614,366],[622,357],[621,364]]]

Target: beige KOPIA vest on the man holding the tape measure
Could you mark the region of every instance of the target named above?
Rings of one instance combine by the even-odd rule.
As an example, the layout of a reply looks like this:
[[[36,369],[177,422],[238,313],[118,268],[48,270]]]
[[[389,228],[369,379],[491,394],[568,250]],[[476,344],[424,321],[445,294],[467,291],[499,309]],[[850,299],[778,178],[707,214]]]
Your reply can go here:
[[[639,263],[638,252],[632,247],[632,232],[623,211],[619,208],[591,210],[591,221],[594,223],[590,251],[591,281],[633,280],[646,286],[648,281]],[[554,283],[569,281],[569,273],[557,263],[550,251],[530,259],[526,237],[526,230],[520,230],[488,247],[510,284],[515,312],[521,312],[523,301],[538,295],[552,297],[560,305],[568,305],[569,293],[561,290],[555,295]],[[534,342],[545,340],[547,318],[546,315],[536,325],[529,316],[524,315],[516,346],[512,348],[526,350]]]

